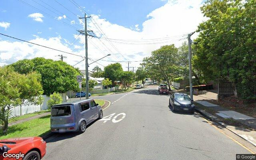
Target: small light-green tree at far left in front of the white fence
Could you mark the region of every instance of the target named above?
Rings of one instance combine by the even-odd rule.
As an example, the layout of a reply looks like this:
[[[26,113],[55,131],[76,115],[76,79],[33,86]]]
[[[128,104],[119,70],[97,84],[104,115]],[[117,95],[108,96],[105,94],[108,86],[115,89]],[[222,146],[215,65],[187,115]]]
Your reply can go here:
[[[12,66],[0,67],[0,122],[4,134],[8,131],[12,108],[42,103],[40,80],[41,76],[36,72],[25,75],[15,72]]]

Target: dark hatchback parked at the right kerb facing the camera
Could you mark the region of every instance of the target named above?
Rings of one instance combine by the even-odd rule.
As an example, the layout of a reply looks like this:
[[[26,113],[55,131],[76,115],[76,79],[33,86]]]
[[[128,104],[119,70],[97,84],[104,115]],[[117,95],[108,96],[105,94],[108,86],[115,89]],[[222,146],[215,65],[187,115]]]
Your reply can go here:
[[[195,105],[193,100],[184,93],[172,93],[169,99],[169,105],[173,111],[184,111],[194,113]]]

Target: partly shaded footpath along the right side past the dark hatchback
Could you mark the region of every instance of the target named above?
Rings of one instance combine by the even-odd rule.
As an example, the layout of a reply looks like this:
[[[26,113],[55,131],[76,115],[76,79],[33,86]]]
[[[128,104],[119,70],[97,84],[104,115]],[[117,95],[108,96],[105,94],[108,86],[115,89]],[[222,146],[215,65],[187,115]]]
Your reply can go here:
[[[256,146],[256,118],[213,104],[217,100],[213,92],[200,91],[193,99],[197,112]]]

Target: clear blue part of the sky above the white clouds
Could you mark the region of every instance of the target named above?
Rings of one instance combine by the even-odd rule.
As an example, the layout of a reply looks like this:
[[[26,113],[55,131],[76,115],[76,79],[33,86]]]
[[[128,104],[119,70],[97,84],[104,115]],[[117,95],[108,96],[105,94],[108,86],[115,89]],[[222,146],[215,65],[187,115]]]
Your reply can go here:
[[[4,30],[4,28],[0,28],[0,31],[6,33],[8,35],[15,35],[16,37],[23,38],[25,40],[33,38],[32,35],[38,35],[38,32],[42,32],[40,37],[49,38],[52,36],[56,36],[60,34],[63,38],[66,38],[70,41],[73,40],[72,34],[76,34],[76,30],[74,28],[70,28],[69,26],[58,22],[48,16],[47,14],[58,17],[64,15],[70,17],[72,20],[78,22],[78,18],[74,15],[83,16],[83,13],[78,10],[78,8],[72,4],[69,0],[58,0],[60,4],[68,8],[74,14],[69,12],[66,8],[55,2],[54,0],[43,0],[43,2],[52,6],[57,12],[50,6],[47,6],[40,0],[22,0],[27,4],[42,10],[32,8],[27,4],[24,4],[18,0],[10,0],[5,1],[0,6],[0,22],[9,22],[10,28]],[[37,4],[37,3],[45,6]],[[147,19],[146,16],[152,10],[163,6],[167,1],[161,0],[76,0],[75,1],[80,6],[84,7],[84,10],[89,12],[90,14],[100,15],[100,18],[105,18],[111,23],[118,24],[120,26],[124,26],[126,28],[134,28],[134,25],[141,24]],[[14,9],[18,8],[18,9]],[[46,12],[47,14],[45,14]],[[42,13],[44,17],[42,18],[43,22],[37,22],[32,18],[29,18],[28,15],[32,13]],[[64,22],[70,24],[70,19],[66,18]],[[76,26],[78,29],[83,29],[82,27]],[[49,29],[52,28],[52,29]],[[57,32],[57,33],[56,33]]]

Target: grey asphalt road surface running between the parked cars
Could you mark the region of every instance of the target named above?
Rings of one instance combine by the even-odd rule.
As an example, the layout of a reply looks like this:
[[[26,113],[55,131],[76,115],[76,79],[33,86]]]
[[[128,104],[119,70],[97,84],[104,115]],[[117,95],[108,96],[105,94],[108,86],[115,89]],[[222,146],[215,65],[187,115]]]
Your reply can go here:
[[[172,112],[168,98],[157,86],[100,96],[111,101],[103,111],[110,120],[95,121],[83,134],[48,138],[43,160],[234,160],[250,154],[199,114]],[[120,113],[125,117],[116,117]]]

